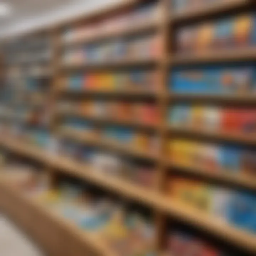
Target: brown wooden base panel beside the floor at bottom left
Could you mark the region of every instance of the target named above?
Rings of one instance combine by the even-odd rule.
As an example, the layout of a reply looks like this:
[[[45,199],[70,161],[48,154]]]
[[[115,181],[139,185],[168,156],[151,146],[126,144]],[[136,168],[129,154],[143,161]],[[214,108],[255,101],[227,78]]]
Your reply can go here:
[[[116,255],[96,234],[79,229],[3,180],[0,181],[0,210],[34,238],[47,255]]]

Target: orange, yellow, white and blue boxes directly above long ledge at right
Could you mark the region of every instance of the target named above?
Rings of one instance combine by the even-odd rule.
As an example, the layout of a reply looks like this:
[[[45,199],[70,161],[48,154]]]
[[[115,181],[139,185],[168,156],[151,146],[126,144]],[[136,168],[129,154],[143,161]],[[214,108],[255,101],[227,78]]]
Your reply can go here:
[[[183,177],[171,177],[167,193],[172,199],[212,214],[220,221],[256,233],[255,194],[215,187]]]

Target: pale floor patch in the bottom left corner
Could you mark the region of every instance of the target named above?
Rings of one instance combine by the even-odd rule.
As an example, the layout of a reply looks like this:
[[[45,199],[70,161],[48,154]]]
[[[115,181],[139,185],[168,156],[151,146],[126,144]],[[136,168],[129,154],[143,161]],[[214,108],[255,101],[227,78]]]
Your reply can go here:
[[[1,256],[44,256],[14,224],[0,214]]]

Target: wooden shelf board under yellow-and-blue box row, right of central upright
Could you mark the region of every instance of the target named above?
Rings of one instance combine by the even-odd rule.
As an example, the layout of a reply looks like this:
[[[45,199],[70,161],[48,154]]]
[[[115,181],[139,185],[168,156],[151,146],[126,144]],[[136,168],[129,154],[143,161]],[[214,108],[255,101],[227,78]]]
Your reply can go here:
[[[176,161],[167,161],[166,165],[181,174],[192,174],[229,185],[256,191],[256,180],[250,175],[242,175],[228,170],[206,170],[200,166],[184,166]]]

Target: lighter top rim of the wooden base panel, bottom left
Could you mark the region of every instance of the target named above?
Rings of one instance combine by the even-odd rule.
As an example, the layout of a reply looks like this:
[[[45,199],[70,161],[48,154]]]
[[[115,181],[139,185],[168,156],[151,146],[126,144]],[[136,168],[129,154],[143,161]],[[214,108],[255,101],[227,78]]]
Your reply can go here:
[[[3,180],[0,181],[0,188],[7,192],[7,194],[12,194],[12,197],[15,197],[23,207],[30,208],[30,211],[37,211],[41,215],[44,215],[47,219],[51,219],[55,224],[61,226],[64,230],[75,236],[78,240],[83,241],[90,249],[93,249],[99,255],[102,256],[117,256],[113,251],[108,248],[106,243],[103,242],[103,239],[100,238],[97,234],[92,234],[90,232],[86,232],[85,230],[79,229],[75,224],[66,220],[59,214],[49,210],[43,204],[26,197],[20,191],[15,188],[8,186],[7,182]],[[40,221],[40,220],[38,220]],[[51,234],[48,234],[49,236]],[[55,245],[56,246],[56,245]]]

